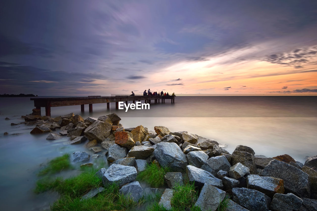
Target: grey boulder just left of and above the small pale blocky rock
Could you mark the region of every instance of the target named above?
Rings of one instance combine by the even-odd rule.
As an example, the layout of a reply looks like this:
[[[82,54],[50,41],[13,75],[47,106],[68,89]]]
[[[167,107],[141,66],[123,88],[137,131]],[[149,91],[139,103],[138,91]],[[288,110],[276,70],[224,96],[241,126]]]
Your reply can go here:
[[[201,169],[204,169],[214,176],[217,176],[219,170],[229,171],[231,168],[230,163],[228,162],[225,156],[210,157]]]

